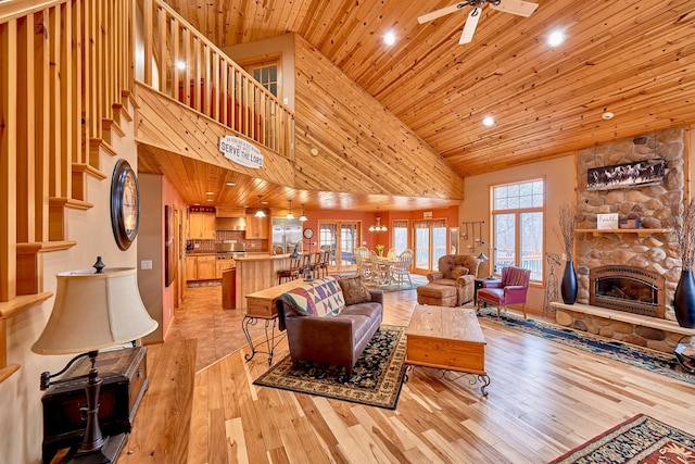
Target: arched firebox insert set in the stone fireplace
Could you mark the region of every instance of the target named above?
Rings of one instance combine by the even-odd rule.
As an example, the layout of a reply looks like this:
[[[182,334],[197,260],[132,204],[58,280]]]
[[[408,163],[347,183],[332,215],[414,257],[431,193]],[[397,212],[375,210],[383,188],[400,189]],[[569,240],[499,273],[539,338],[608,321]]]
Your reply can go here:
[[[665,278],[640,267],[609,265],[589,271],[590,304],[664,318]]]

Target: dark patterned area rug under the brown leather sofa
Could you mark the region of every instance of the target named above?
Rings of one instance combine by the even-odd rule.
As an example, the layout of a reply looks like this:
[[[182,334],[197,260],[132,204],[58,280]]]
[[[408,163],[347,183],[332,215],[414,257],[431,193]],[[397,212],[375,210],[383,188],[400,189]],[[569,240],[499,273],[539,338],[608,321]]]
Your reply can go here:
[[[405,374],[405,327],[382,325],[348,378],[345,367],[286,356],[253,384],[395,410]]]

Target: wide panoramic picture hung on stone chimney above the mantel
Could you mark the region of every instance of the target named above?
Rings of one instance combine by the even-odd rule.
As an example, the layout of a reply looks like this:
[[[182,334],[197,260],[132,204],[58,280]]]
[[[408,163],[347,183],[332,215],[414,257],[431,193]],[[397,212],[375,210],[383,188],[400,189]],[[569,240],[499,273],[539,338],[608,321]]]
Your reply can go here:
[[[586,190],[644,187],[664,181],[666,161],[661,158],[636,163],[592,167],[586,171]]]

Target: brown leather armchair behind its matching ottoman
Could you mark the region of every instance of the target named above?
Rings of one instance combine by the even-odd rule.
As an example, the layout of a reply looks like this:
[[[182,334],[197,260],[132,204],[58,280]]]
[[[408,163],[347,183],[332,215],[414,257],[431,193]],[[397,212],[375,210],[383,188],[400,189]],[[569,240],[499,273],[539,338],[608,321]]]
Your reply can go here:
[[[456,288],[456,305],[472,301],[480,260],[472,254],[444,254],[439,271],[427,275],[431,284]],[[429,284],[428,284],[429,285]]]

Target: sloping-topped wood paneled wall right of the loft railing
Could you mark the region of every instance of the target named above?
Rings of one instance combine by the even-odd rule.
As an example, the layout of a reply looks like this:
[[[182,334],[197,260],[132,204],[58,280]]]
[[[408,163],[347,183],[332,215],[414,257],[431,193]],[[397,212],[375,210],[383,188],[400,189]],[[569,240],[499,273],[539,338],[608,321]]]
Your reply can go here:
[[[294,50],[298,186],[464,198],[462,177],[413,130],[300,36]]]

